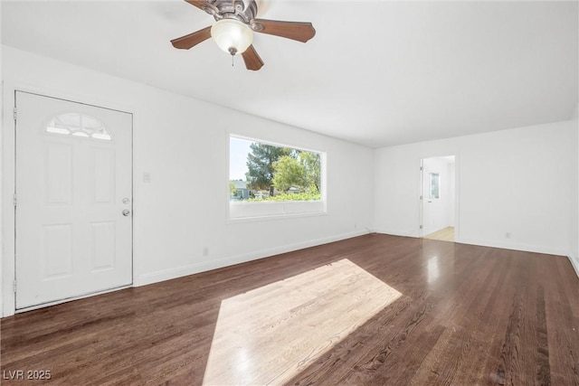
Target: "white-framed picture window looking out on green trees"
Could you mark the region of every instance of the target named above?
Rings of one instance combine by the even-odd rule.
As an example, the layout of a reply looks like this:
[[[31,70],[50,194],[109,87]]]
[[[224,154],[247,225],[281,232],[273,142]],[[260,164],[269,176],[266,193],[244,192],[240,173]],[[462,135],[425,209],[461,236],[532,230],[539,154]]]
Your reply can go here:
[[[230,219],[325,212],[325,155],[229,138]]]

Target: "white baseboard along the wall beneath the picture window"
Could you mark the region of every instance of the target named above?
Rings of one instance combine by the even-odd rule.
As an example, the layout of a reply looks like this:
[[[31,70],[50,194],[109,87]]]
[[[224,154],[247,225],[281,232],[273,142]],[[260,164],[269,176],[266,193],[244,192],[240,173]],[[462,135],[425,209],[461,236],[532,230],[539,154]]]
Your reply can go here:
[[[268,258],[271,256],[279,255],[281,253],[287,253],[294,250],[327,244],[328,242],[351,239],[353,237],[362,236],[367,233],[368,231],[343,233],[341,235],[327,237],[323,239],[308,240],[271,249],[261,249],[257,251],[244,253],[242,255],[229,256],[221,259],[212,259],[211,261],[203,261],[197,264],[191,264],[184,267],[169,268],[162,271],[146,273],[138,276],[138,279],[136,280],[135,283],[135,287],[146,286],[147,284],[158,283],[161,281],[170,280],[172,278],[182,278],[184,276],[193,275],[195,273],[204,272],[216,268],[233,266],[235,264],[240,264],[256,259]]]

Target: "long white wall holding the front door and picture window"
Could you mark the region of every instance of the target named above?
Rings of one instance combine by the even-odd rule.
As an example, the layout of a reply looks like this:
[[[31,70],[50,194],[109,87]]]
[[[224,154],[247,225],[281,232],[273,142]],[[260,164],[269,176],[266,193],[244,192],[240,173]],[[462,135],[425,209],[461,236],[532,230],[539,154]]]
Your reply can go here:
[[[339,240],[373,227],[374,152],[200,100],[3,46],[5,111],[14,89],[134,113],[138,285]],[[14,192],[14,121],[5,114],[3,194]],[[228,222],[229,133],[327,152],[327,214]],[[151,181],[143,182],[143,174]],[[3,200],[4,235],[14,232]],[[7,210],[7,211],[6,211]],[[13,211],[14,212],[14,211]],[[208,249],[208,256],[203,250]],[[14,312],[14,240],[5,236],[5,315]]]

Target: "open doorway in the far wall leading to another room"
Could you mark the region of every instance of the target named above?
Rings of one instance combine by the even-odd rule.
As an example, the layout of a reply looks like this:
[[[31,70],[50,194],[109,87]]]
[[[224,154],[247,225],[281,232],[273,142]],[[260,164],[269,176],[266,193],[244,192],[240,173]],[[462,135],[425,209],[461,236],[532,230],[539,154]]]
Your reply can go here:
[[[435,156],[421,160],[422,239],[455,240],[456,157]]]

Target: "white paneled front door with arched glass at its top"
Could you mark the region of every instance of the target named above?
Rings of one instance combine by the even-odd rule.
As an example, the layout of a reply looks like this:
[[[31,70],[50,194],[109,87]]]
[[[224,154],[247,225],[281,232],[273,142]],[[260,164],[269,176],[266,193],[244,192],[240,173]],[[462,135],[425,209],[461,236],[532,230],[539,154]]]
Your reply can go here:
[[[16,309],[132,283],[132,115],[16,91]]]

